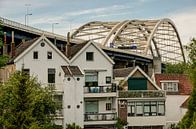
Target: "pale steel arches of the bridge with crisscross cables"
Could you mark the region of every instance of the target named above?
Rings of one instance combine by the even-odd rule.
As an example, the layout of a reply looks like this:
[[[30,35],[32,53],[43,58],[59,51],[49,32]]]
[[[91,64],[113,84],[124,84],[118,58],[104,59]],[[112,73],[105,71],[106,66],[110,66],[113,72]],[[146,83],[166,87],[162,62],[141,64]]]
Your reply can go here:
[[[93,21],[74,31],[71,39],[93,40],[106,47],[159,57],[164,63],[185,62],[178,31],[170,19]]]

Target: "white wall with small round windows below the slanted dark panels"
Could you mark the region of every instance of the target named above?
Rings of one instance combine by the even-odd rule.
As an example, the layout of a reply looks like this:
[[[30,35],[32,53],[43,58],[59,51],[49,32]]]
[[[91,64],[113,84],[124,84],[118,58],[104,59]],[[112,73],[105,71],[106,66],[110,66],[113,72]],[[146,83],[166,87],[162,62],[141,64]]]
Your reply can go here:
[[[67,79],[70,78],[70,81]],[[77,78],[80,78],[78,81]],[[66,124],[76,123],[82,128],[84,127],[84,109],[83,109],[83,85],[84,77],[65,77],[64,79],[64,98],[63,98],[63,111],[64,111],[64,128]],[[68,105],[71,108],[68,108]],[[77,108],[77,105],[80,107]]]

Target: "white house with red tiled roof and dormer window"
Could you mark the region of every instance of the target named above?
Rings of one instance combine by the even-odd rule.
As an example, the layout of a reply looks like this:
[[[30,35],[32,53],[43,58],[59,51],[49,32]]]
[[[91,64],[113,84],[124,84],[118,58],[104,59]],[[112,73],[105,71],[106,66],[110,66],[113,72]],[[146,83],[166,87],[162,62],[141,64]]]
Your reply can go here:
[[[183,74],[155,74],[157,85],[166,91],[166,127],[177,124],[187,111],[192,91],[191,82]]]

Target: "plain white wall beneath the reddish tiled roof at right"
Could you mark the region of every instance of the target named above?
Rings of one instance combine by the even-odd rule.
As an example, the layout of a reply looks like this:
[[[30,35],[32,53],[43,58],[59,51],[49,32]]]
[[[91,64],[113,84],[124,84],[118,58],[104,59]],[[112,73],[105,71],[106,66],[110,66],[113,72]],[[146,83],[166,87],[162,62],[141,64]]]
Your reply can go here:
[[[177,123],[179,122],[186,109],[180,108],[182,103],[188,98],[188,95],[167,95],[166,98],[166,122]]]

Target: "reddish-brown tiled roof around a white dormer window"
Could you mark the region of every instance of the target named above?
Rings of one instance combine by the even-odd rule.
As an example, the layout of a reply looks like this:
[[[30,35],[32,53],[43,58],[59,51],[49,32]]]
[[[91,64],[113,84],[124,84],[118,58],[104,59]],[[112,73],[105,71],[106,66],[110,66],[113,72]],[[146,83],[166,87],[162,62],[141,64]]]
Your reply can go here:
[[[179,92],[177,95],[190,95],[192,91],[191,81],[188,75],[185,74],[155,74],[155,80],[157,85],[161,88],[161,81],[177,80],[179,81]],[[167,92],[167,94],[173,95],[173,93]]]

